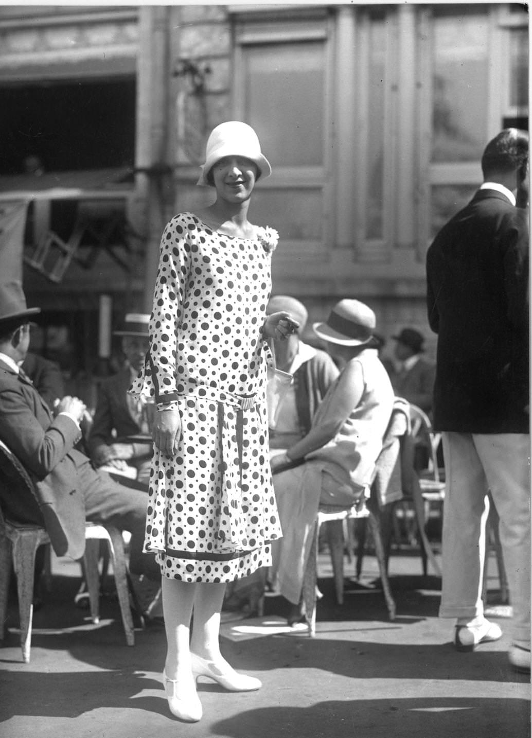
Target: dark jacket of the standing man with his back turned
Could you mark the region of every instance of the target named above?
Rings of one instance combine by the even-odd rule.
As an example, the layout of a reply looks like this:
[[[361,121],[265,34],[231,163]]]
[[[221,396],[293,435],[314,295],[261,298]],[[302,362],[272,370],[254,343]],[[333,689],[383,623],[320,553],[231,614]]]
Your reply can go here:
[[[436,430],[527,433],[528,218],[478,190],[426,258]]]

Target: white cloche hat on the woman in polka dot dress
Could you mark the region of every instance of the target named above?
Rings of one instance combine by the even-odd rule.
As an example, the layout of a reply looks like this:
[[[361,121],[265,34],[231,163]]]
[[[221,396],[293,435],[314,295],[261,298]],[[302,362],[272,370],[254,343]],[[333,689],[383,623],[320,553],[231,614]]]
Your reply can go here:
[[[272,167],[260,151],[258,136],[251,125],[240,120],[227,120],[211,131],[207,140],[205,163],[201,165],[201,174],[196,184],[212,186],[211,182],[207,182],[207,176],[215,163],[224,156],[243,156],[250,159],[257,165],[260,177],[269,177],[272,173]]]

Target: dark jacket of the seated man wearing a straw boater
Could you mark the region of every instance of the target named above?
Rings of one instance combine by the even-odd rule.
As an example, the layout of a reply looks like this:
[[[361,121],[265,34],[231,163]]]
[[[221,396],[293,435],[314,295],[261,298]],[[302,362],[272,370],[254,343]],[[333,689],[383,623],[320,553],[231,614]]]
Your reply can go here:
[[[140,432],[139,425],[131,417],[127,393],[131,385],[131,373],[124,369],[100,384],[94,420],[89,434],[89,453],[94,454],[101,446],[110,446],[114,441]],[[113,435],[116,431],[116,437]],[[151,444],[134,444],[134,456],[151,455]]]

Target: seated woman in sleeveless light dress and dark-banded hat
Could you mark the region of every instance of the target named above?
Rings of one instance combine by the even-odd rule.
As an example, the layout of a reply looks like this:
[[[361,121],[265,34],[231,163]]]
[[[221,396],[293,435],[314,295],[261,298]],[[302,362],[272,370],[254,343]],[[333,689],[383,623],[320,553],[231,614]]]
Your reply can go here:
[[[275,542],[274,584],[299,604],[320,497],[353,503],[369,496],[394,393],[373,341],[376,318],[359,300],[340,300],[314,332],[342,367],[311,429],[271,459],[283,538]]]

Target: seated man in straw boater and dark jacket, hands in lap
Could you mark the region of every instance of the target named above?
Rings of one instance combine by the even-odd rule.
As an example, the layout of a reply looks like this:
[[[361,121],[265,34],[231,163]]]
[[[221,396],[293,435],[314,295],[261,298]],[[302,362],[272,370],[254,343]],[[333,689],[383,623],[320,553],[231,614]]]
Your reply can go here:
[[[105,466],[109,472],[131,470],[137,482],[148,489],[151,466],[151,442],[133,442],[128,437],[149,432],[150,408],[146,399],[128,394],[128,388],[144,366],[149,348],[149,314],[128,313],[121,328],[114,331],[122,337],[125,367],[104,379],[98,390],[94,420],[88,446],[94,466]]]

